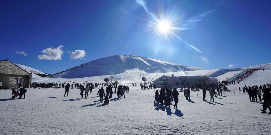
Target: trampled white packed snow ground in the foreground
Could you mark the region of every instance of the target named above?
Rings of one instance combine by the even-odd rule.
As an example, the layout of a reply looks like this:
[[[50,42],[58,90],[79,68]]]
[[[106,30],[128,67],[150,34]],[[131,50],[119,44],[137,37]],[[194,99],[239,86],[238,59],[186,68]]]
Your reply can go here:
[[[79,82],[80,83],[80,82]],[[28,89],[26,99],[11,99],[11,90],[0,91],[1,134],[245,134],[270,135],[269,114],[247,94],[225,95],[209,102],[191,91],[192,101],[179,92],[178,110],[156,107],[154,90],[132,87],[126,98],[112,95],[109,105],[99,103],[98,89],[81,99],[79,89]],[[101,86],[99,86],[101,87]],[[137,91],[137,88],[139,89]],[[172,102],[174,104],[174,102]],[[268,111],[267,111],[268,112]]]

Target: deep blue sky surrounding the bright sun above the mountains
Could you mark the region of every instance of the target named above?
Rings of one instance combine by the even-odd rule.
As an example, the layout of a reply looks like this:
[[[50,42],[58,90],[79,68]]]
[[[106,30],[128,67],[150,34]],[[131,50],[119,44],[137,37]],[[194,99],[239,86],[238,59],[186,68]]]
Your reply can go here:
[[[270,7],[254,0],[1,1],[0,60],[50,74],[115,54],[206,69],[265,64]],[[155,35],[152,14],[161,13],[176,19],[176,36]]]

